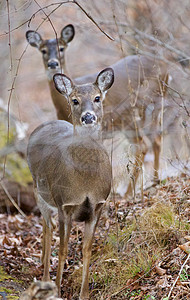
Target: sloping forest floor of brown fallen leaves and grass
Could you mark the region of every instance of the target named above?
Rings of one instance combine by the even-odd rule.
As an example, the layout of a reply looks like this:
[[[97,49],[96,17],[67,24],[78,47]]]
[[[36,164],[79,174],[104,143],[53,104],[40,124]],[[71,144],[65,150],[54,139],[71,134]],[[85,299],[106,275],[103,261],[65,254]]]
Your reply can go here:
[[[63,299],[78,299],[83,224],[74,223],[62,281]],[[0,214],[0,299],[19,299],[41,280],[42,218]],[[58,262],[52,243],[51,279]],[[34,298],[31,298],[34,299]],[[36,299],[36,298],[35,298]],[[41,298],[40,298],[41,299]],[[90,299],[190,299],[190,178],[185,174],[126,200],[112,196],[97,227]]]

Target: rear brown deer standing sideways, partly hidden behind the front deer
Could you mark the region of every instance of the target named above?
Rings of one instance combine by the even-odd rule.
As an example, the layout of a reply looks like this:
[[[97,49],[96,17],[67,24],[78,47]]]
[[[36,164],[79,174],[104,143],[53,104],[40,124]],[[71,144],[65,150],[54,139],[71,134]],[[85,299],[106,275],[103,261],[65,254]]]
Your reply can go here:
[[[74,30],[73,30],[74,31]],[[28,33],[26,33],[28,37]],[[32,43],[38,49],[39,34],[33,32]],[[71,40],[71,38],[70,38]],[[50,47],[51,40],[46,41],[49,49],[46,57],[43,56],[44,65],[48,71],[46,61],[54,55],[54,60],[59,61],[63,71],[65,71],[65,60],[59,60],[58,51],[53,46]],[[54,47],[57,47],[54,41]],[[167,65],[156,59],[146,56],[129,55],[109,66],[114,70],[115,80],[112,88],[107,92],[104,101],[103,132],[105,138],[110,137],[110,132],[117,134],[123,131],[133,145],[135,162],[130,168],[130,181],[124,197],[131,195],[140,170],[144,163],[145,155],[150,147],[154,153],[154,183],[159,182],[159,160],[161,152],[160,112],[164,103],[169,74]],[[56,69],[54,69],[54,72]],[[87,74],[74,79],[76,84],[90,83],[95,80],[97,73]],[[70,108],[65,105],[66,98],[60,99],[55,88],[50,81],[50,90],[53,103],[57,110],[57,118],[70,121]]]

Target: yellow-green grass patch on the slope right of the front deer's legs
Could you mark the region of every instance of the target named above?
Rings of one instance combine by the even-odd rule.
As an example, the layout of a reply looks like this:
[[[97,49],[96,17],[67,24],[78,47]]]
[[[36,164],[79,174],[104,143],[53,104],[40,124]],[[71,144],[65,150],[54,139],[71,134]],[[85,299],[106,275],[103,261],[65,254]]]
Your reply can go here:
[[[163,255],[175,248],[190,230],[188,222],[179,222],[170,202],[158,202],[141,212],[124,226],[116,221],[98,253],[93,255],[91,299],[131,299],[130,286],[116,298],[114,294],[141,276],[148,276]],[[82,268],[70,278],[76,295],[80,291],[81,275]]]

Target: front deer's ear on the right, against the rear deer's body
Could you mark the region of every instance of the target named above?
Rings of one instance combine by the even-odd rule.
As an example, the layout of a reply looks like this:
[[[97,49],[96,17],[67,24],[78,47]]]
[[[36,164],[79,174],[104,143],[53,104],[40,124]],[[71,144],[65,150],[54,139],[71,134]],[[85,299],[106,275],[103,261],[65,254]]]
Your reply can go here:
[[[96,84],[101,92],[106,92],[114,82],[114,71],[112,68],[102,70],[96,79]]]

